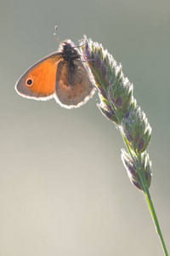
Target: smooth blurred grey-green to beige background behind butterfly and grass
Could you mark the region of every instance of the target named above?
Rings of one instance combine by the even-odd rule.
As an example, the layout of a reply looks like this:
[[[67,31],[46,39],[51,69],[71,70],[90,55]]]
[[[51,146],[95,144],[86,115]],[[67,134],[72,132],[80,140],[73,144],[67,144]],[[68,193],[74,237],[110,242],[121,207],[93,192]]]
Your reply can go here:
[[[122,63],[153,128],[150,194],[170,252],[170,2],[7,0],[0,3],[0,255],[163,255],[144,195],[122,165],[122,137],[95,93],[67,110],[14,90],[54,52],[53,36],[86,34]]]

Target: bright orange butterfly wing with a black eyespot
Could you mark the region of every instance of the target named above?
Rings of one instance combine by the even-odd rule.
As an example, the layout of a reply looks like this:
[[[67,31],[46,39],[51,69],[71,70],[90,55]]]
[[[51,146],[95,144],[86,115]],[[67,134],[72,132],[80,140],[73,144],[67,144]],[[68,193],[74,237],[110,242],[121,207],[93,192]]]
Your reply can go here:
[[[27,98],[48,100],[53,98],[55,79],[62,55],[53,53],[31,66],[15,85],[15,90]]]

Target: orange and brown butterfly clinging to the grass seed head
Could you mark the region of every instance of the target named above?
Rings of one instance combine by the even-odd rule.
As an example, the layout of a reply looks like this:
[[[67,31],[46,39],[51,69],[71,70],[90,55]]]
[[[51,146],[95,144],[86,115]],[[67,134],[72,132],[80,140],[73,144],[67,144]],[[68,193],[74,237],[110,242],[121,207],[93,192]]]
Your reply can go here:
[[[77,46],[66,39],[58,51],[31,66],[17,81],[15,90],[26,98],[54,98],[61,107],[78,108],[95,90],[86,65]]]

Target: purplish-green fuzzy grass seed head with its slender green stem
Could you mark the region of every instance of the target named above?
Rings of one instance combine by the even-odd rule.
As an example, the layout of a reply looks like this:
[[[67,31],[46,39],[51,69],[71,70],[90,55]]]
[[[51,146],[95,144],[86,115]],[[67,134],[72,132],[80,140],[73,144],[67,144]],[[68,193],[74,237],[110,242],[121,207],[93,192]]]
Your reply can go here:
[[[101,44],[88,40],[86,36],[83,40],[82,56],[88,63],[88,71],[99,91],[98,107],[121,132],[127,148],[127,152],[122,149],[123,165],[133,185],[144,192],[163,251],[168,255],[149,192],[151,162],[146,148],[150,143],[150,124],[133,98],[133,84],[124,77],[122,65],[117,65],[113,56]]]

